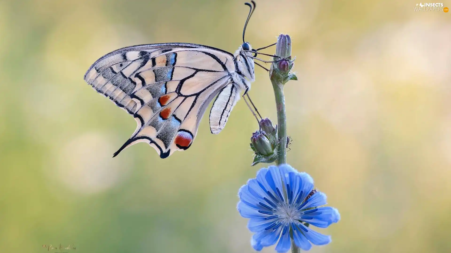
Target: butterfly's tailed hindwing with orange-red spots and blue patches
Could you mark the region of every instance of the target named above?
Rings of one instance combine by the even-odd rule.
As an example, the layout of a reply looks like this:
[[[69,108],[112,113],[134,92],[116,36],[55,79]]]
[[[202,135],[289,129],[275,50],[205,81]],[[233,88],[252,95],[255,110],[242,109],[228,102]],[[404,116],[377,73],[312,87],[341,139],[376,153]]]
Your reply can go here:
[[[175,150],[188,149],[208,104],[228,81],[228,78],[222,77],[198,95],[177,96],[171,92],[152,99],[135,113],[138,127],[115,155],[138,142],[150,144],[161,158],[166,158]],[[161,105],[162,100],[166,105]]]

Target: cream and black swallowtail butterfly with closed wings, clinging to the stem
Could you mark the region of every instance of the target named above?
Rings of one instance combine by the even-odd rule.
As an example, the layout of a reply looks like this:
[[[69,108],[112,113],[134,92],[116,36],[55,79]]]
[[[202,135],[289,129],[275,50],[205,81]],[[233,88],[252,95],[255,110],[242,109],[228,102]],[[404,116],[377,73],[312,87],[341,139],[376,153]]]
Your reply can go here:
[[[235,54],[205,45],[161,43],[124,47],[92,64],[84,80],[138,123],[113,157],[138,142],[147,142],[161,158],[188,149],[215,97],[210,130],[221,132],[241,92],[247,94],[255,80],[257,50],[244,41],[252,4],[245,3],[250,10]]]

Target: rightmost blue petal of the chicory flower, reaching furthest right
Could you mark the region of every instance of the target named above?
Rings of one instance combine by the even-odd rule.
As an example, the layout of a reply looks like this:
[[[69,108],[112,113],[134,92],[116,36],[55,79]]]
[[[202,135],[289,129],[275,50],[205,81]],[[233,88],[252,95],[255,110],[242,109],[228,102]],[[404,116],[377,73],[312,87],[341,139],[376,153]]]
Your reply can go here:
[[[340,213],[336,208],[320,207],[315,209],[317,210],[315,212],[301,213],[299,219],[322,228],[340,221]]]

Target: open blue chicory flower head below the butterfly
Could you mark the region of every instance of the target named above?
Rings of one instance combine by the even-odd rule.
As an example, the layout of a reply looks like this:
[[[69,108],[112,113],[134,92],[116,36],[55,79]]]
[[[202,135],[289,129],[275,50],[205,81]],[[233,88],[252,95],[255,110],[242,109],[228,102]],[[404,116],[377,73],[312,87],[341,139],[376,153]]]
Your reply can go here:
[[[238,211],[250,218],[248,228],[255,233],[251,244],[258,251],[279,241],[276,251],[287,252],[290,230],[295,244],[303,250],[309,250],[312,244],[328,244],[330,236],[306,225],[325,228],[340,220],[336,208],[320,207],[326,204],[326,194],[313,189],[312,177],[287,164],[262,168],[238,195]]]

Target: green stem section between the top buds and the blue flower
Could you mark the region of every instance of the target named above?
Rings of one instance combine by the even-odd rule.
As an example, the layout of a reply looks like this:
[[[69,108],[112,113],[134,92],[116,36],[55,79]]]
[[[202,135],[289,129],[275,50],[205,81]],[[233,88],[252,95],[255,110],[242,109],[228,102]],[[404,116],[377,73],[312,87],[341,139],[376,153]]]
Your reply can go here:
[[[277,137],[279,138],[279,158],[277,165],[286,163],[286,115],[285,115],[285,96],[283,94],[283,84],[271,77],[272,87],[274,88],[274,96],[276,97],[277,109]]]

